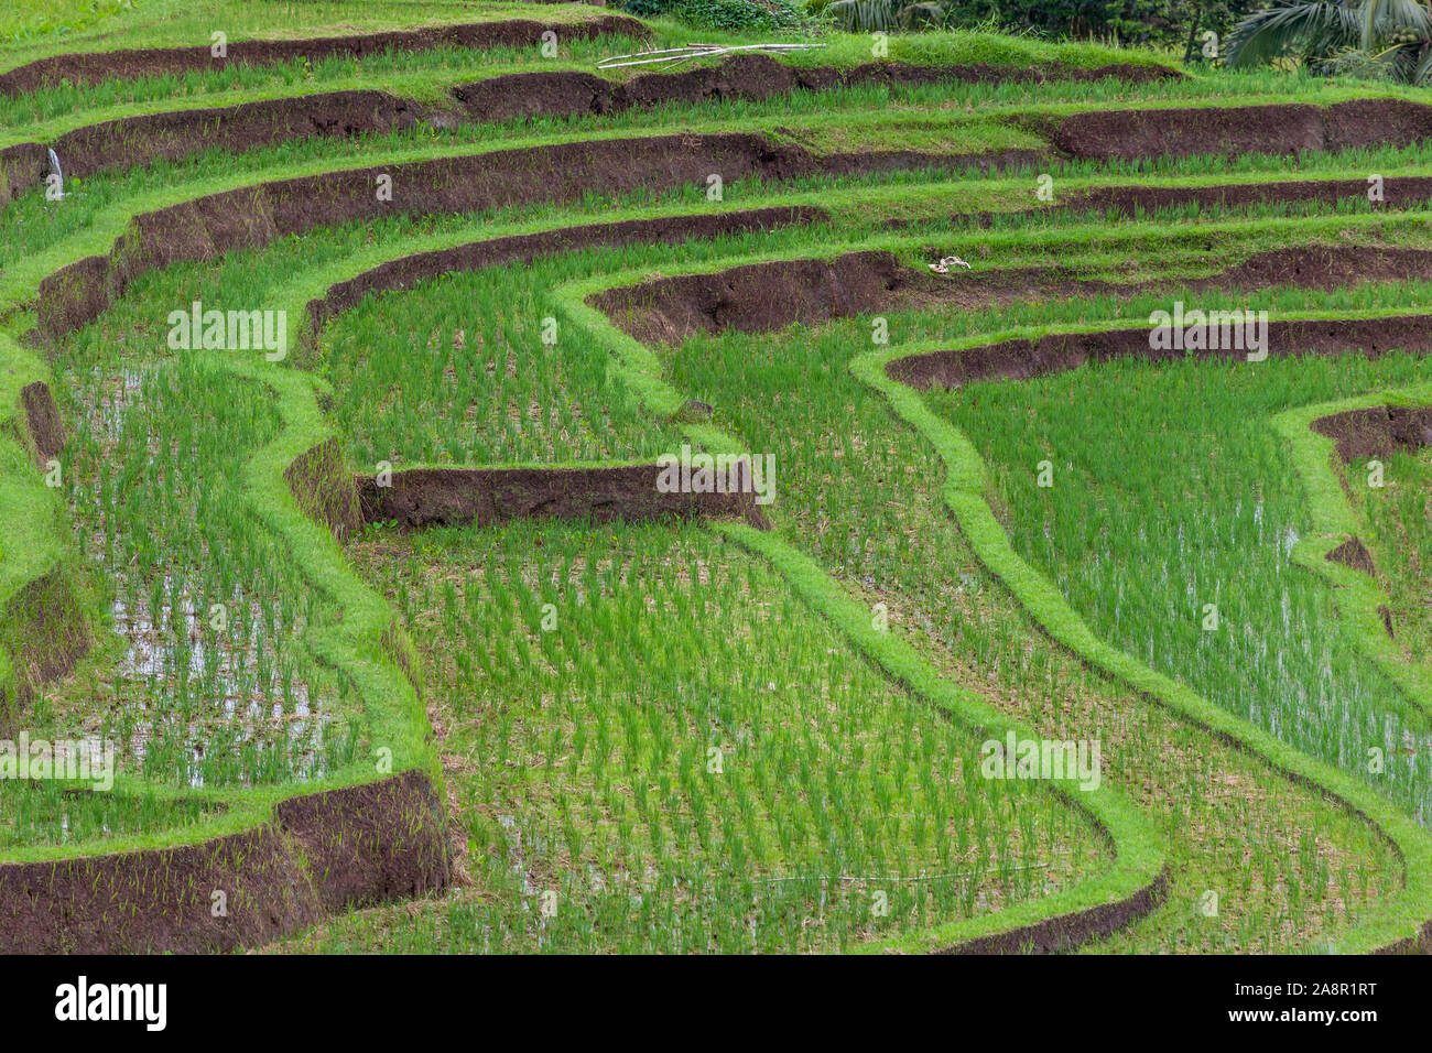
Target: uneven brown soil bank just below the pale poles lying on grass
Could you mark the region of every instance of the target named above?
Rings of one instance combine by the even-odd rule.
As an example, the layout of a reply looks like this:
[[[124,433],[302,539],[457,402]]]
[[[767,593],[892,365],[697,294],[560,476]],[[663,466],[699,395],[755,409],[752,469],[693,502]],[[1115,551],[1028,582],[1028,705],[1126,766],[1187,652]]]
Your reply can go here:
[[[912,66],[904,62],[868,62],[849,69],[788,66],[766,54],[739,54],[707,69],[682,73],[643,73],[616,83],[591,73],[507,73],[458,85],[453,96],[480,120],[513,120],[538,116],[590,116],[647,109],[667,103],[740,99],[763,102],[795,92],[828,92],[865,85],[921,86],[942,83],[1048,83],[1117,77],[1148,83],[1180,77],[1166,66]]]

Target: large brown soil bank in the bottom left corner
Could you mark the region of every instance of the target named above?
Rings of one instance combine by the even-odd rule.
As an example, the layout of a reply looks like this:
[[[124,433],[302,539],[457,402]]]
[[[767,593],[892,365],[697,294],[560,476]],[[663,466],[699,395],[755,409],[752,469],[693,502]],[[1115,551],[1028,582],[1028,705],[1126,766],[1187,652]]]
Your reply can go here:
[[[0,953],[226,951],[448,880],[441,805],[411,771],[284,801],[258,830],[205,844],[0,864]]]

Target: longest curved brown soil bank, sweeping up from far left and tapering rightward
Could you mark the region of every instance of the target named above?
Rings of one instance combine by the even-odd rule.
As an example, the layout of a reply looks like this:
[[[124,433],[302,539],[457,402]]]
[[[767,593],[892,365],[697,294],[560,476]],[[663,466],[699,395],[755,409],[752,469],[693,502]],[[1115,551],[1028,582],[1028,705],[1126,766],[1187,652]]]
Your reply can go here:
[[[894,163],[1008,162],[990,158],[911,155]],[[705,185],[710,173],[786,181],[892,163],[879,158],[819,156],[762,135],[683,135],[597,139],[377,168],[324,172],[215,193],[133,219],[109,256],[89,256],[40,284],[39,328],[54,338],[93,321],[136,275],[176,262],[255,249],[288,234],[390,215],[498,209],[579,201],[590,193]],[[378,199],[378,176],[391,178],[391,201]]]

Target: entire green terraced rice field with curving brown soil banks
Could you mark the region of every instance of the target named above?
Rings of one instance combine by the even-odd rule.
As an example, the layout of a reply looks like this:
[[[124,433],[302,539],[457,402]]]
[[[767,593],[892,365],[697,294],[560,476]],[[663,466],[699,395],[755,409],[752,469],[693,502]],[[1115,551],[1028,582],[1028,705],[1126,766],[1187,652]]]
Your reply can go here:
[[[1426,950],[1425,90],[388,7],[0,44],[0,947]]]

